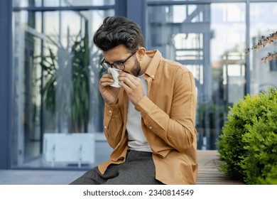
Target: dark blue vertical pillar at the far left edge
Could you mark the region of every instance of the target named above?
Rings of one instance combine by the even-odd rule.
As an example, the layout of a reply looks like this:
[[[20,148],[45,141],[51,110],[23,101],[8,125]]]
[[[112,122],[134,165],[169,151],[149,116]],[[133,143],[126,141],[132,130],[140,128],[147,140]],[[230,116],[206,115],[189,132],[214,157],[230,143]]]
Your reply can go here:
[[[0,1],[0,169],[11,168],[11,4]]]

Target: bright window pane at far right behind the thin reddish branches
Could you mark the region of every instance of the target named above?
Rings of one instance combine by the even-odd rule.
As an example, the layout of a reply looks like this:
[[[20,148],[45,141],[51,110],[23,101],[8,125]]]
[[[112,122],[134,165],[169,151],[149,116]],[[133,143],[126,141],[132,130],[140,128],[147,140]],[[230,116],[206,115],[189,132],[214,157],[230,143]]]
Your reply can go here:
[[[261,36],[277,31],[276,3],[252,3],[250,4],[250,47],[256,45]],[[277,87],[276,60],[268,63],[261,63],[267,53],[277,52],[277,41],[266,45],[264,48],[249,54],[251,69],[251,94],[258,94],[261,91],[268,91],[268,87]]]

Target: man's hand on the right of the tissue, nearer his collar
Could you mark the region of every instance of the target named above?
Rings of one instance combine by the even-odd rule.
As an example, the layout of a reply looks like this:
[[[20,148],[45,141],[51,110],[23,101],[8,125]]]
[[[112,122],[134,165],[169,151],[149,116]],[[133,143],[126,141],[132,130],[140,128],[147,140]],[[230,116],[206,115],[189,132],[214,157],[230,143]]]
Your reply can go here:
[[[130,101],[136,105],[144,96],[141,79],[126,73],[124,71],[119,74],[119,85],[126,91]]]

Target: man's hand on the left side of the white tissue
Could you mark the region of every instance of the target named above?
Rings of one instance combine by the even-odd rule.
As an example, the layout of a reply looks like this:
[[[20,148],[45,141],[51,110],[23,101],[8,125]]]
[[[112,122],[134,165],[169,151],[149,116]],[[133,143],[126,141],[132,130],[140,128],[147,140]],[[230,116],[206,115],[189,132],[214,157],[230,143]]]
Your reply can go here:
[[[119,87],[112,87],[114,79],[111,74],[104,74],[99,80],[99,91],[107,104],[116,104],[118,101]]]

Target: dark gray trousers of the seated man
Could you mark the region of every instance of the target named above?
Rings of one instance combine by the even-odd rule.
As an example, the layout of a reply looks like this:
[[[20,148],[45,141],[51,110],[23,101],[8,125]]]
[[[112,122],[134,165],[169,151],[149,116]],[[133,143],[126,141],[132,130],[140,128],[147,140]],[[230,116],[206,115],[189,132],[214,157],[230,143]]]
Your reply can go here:
[[[165,171],[166,172],[166,171]],[[161,185],[155,179],[155,166],[152,153],[130,150],[126,161],[119,165],[111,164],[102,175],[97,167],[87,171],[70,185]]]

